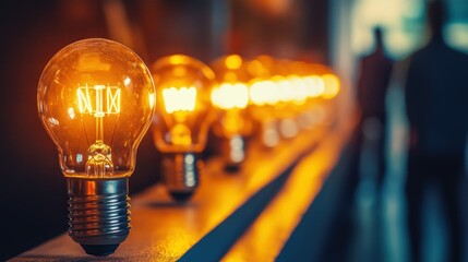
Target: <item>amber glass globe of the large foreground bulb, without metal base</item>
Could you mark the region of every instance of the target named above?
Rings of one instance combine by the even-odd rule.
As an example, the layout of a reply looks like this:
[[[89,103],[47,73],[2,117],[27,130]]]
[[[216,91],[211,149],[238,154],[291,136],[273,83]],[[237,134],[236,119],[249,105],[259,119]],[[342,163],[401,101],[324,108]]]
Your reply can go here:
[[[67,177],[129,177],[153,116],[153,79],[129,48],[84,39],[57,52],[43,71],[37,108]]]

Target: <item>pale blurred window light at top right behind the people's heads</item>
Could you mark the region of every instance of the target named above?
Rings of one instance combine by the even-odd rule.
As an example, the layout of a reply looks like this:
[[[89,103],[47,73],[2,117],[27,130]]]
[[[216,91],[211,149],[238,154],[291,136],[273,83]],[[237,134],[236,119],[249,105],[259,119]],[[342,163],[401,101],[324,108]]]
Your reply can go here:
[[[384,44],[394,59],[404,59],[427,40],[424,0],[356,0],[351,9],[355,55],[373,50],[372,28],[384,27]],[[468,1],[446,0],[448,45],[468,52]]]

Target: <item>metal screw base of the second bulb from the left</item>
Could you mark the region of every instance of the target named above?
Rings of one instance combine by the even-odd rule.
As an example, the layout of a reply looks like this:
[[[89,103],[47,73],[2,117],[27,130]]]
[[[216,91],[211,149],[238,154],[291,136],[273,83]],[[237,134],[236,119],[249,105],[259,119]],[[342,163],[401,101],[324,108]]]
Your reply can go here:
[[[168,154],[163,159],[164,180],[169,194],[178,202],[192,198],[199,187],[203,162],[195,153]]]

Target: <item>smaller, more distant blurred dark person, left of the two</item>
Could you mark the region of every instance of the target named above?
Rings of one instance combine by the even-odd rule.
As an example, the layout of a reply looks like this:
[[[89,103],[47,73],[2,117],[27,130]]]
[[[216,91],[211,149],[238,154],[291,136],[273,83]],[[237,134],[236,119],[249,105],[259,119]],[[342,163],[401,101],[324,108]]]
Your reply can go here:
[[[385,95],[394,62],[385,53],[382,28],[375,27],[373,35],[375,50],[362,58],[358,79],[358,103],[362,112],[359,126],[358,152],[362,151],[365,140],[373,142],[370,144],[373,145],[377,160],[376,182],[380,187],[385,172]]]

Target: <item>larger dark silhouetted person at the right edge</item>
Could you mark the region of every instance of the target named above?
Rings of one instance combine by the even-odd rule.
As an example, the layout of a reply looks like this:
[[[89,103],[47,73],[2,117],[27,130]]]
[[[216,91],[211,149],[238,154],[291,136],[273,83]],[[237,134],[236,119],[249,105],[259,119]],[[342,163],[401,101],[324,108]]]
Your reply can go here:
[[[449,258],[444,261],[460,261],[458,186],[468,126],[468,56],[444,43],[443,3],[431,2],[428,11],[431,39],[409,58],[405,86],[410,129],[406,193],[411,253],[413,261],[421,261],[423,194],[433,183],[441,191],[451,240]]]

